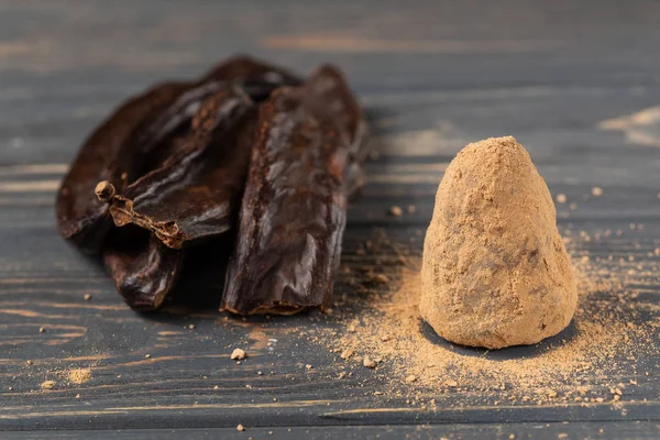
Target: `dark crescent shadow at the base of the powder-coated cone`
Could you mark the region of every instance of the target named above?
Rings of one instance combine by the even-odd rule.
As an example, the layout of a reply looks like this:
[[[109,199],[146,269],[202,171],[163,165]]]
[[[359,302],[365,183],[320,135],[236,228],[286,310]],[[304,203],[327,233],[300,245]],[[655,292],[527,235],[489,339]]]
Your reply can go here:
[[[579,334],[575,320],[573,319],[571,323],[561,332],[534,345],[515,345],[499,350],[490,350],[476,346],[459,345],[453,342],[449,342],[448,340],[438,336],[433,328],[422,319],[419,320],[419,331],[429,342],[442,346],[443,349],[451,350],[455,353],[466,356],[485,358],[491,361],[510,361],[536,358],[553,350],[554,348],[558,348],[561,344],[564,344],[568,341],[573,340]]]

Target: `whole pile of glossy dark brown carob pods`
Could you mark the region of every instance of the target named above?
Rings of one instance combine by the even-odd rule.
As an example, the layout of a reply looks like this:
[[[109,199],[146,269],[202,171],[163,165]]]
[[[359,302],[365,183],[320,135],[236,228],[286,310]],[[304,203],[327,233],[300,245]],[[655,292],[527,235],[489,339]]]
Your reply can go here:
[[[102,257],[134,309],[160,308],[189,261],[223,283],[221,310],[322,308],[366,132],[337,68],[302,79],[232,57],[129,99],[96,129],[57,194],[59,231]]]

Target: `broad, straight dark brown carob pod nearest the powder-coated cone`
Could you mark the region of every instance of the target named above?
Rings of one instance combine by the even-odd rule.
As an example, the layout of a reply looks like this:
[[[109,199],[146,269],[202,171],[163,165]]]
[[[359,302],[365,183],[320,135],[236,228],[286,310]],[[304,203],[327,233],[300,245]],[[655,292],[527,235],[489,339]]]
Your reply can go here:
[[[310,94],[285,87],[262,105],[221,310],[287,315],[330,299],[351,145]]]

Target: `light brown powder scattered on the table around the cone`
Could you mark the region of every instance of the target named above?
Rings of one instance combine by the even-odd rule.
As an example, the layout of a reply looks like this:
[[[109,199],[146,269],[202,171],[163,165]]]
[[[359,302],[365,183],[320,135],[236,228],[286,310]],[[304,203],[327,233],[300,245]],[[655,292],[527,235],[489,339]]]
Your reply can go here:
[[[632,317],[647,304],[636,301],[636,294],[625,286],[639,283],[636,277],[640,273],[626,275],[612,258],[592,258],[584,251],[587,240],[609,233],[614,234],[602,231],[587,238],[564,231],[564,243],[576,268],[579,306],[564,332],[537,345],[488,351],[454,345],[436,336],[419,312],[421,258],[410,255],[403,266],[378,266],[391,279],[387,292],[342,295],[328,319],[341,322],[343,331],[319,328],[315,340],[328,341],[342,371],[362,367],[366,356],[380,359],[373,374],[391,384],[384,397],[404,398],[422,407],[462,407],[476,402],[496,406],[517,402],[617,405],[620,396],[609,391],[618,388],[626,396],[628,387],[638,386],[637,377],[648,376],[645,369],[653,369],[636,359],[660,354],[652,343],[660,326],[639,319],[632,323]],[[374,249],[377,258],[386,257],[383,252],[383,246]],[[660,271],[660,264],[656,268]],[[641,272],[652,273],[652,268]],[[340,358],[346,348],[351,348],[351,356]],[[346,377],[345,373],[340,377]],[[619,382],[625,377],[635,381]]]

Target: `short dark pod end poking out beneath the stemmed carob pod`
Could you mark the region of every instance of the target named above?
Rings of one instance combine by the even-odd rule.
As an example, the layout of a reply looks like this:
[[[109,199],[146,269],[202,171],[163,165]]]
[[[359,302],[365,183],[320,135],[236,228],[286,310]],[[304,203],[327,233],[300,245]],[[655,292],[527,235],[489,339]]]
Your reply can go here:
[[[103,250],[103,265],[117,292],[135,310],[158,309],[174,287],[183,253],[167,248],[147,231],[121,228],[112,231]]]

